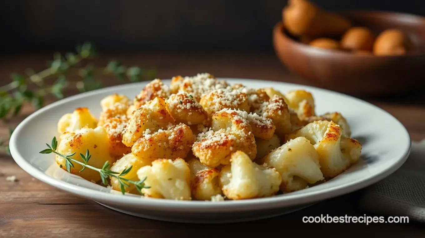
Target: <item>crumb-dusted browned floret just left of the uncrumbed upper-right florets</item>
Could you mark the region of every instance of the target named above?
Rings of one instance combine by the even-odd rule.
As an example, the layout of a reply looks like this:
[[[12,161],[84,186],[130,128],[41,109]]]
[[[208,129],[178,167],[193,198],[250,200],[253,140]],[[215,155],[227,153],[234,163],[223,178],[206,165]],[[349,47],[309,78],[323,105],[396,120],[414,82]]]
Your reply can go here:
[[[256,113],[272,120],[278,136],[282,137],[292,131],[288,105],[282,97],[275,95],[269,102],[264,102]]]

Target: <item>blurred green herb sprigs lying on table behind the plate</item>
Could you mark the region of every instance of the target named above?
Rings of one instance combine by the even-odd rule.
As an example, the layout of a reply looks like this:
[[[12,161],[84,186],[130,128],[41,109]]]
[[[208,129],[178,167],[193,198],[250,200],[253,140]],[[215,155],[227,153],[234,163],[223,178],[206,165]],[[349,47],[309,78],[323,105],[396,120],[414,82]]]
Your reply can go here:
[[[80,92],[102,88],[102,76],[116,77],[119,82],[126,79],[130,82],[140,80],[152,80],[156,77],[153,69],[143,69],[136,66],[126,67],[113,60],[106,67],[96,68],[89,61],[96,57],[94,45],[85,42],[77,46],[76,52],[62,55],[55,53],[53,61],[48,62],[49,67],[38,73],[32,69],[23,74],[11,74],[11,82],[0,86],[0,120],[18,116],[23,105],[30,102],[36,110],[45,105],[45,96],[53,95],[57,99],[64,97],[64,91],[68,88],[77,88]],[[85,66],[82,67],[82,63]],[[82,78],[79,81],[68,81],[70,75]],[[0,150],[8,151],[5,146],[6,139],[0,142]]]

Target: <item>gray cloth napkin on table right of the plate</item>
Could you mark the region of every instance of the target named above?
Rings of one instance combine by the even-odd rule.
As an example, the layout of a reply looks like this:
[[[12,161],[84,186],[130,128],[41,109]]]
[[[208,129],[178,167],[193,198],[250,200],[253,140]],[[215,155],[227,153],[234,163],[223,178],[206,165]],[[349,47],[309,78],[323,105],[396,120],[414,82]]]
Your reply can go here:
[[[411,154],[402,167],[365,189],[360,208],[425,222],[425,140],[412,142]]]

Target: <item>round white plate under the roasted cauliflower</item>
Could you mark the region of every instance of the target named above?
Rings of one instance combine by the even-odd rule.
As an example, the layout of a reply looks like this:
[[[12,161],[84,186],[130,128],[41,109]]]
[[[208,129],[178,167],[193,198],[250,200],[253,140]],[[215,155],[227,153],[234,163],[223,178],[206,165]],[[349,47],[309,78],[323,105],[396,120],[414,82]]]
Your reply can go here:
[[[99,115],[100,100],[119,93],[133,98],[146,82],[104,88],[52,103],[31,114],[18,125],[10,139],[11,154],[17,164],[41,181],[74,195],[131,215],[178,222],[232,222],[271,217],[298,210],[314,202],[350,193],[393,173],[407,159],[411,141],[405,127],[389,113],[344,94],[303,85],[252,79],[226,79],[252,88],[274,87],[280,91],[305,89],[316,102],[318,114],[339,111],[351,126],[352,137],[363,144],[362,159],[326,183],[301,191],[241,201],[173,201],[121,195],[65,172],[54,156],[38,153],[57,136],[57,121],[78,107],[88,107]],[[169,84],[170,80],[164,80]]]

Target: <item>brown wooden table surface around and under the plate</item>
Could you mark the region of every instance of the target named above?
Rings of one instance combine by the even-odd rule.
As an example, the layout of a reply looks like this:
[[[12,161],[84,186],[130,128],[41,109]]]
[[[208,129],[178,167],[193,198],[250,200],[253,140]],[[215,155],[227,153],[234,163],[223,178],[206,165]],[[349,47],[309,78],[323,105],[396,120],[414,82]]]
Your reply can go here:
[[[216,77],[307,84],[289,73],[272,53],[108,54],[97,60],[96,65],[105,65],[114,57],[125,65],[155,67],[159,78],[209,72]],[[9,74],[13,72],[23,72],[27,67],[36,71],[44,69],[45,60],[48,59],[49,54],[2,56],[0,85],[9,82]],[[405,125],[413,140],[425,138],[423,96],[368,101],[396,116]],[[7,137],[7,128],[16,126],[28,113],[31,113],[31,107],[26,106],[23,115],[7,124],[0,122],[0,136]],[[16,176],[18,181],[6,181],[7,176]],[[70,195],[32,178],[18,167],[13,159],[0,154],[0,237],[264,237],[275,234],[330,235],[333,232],[350,237],[363,234],[424,237],[425,225],[413,221],[409,224],[369,225],[302,223],[302,217],[310,215],[373,215],[357,207],[361,194],[362,190],[320,202],[292,214],[261,221],[223,225],[177,224],[121,214],[94,201]]]

